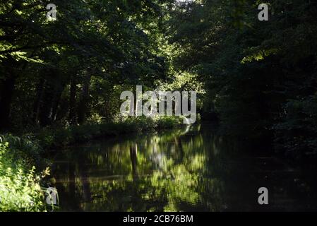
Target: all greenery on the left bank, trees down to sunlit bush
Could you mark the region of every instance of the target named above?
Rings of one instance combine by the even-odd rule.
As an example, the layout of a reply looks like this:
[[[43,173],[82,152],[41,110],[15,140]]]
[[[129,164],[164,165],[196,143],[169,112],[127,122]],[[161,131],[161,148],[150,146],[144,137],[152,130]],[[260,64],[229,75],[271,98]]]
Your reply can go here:
[[[46,20],[49,3],[0,4],[0,131],[39,145],[1,146],[1,210],[42,209],[32,167],[44,167],[42,150],[179,121],[119,114],[122,91],[169,77],[159,44],[165,1],[54,1],[56,21]]]

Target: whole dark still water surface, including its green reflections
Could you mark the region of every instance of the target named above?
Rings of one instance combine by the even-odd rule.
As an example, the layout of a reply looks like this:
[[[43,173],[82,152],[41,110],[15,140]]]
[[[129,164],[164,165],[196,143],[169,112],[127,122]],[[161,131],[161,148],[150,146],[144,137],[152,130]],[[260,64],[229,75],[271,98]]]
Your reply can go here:
[[[244,150],[245,149],[245,150]],[[256,150],[258,149],[258,150]],[[64,211],[317,210],[316,171],[250,150],[210,126],[94,141],[54,157]],[[258,189],[269,204],[258,204]]]

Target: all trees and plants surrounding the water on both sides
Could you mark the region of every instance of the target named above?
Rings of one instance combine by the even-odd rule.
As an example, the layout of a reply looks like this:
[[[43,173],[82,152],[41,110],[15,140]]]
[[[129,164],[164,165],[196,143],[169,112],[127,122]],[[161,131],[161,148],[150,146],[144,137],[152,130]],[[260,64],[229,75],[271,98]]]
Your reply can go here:
[[[42,209],[32,166],[49,148],[179,124],[123,117],[136,85],[196,90],[219,133],[317,154],[314,1],[268,1],[268,21],[251,0],[56,0],[55,21],[49,3],[0,3],[0,132],[24,143],[1,143],[0,210]]]

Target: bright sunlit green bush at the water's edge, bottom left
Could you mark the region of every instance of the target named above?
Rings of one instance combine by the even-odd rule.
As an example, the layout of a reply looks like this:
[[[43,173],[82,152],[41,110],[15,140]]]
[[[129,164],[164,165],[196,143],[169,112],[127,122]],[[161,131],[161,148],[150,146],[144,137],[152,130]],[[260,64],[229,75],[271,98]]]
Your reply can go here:
[[[0,211],[45,210],[40,177],[18,153],[8,142],[0,143]]]

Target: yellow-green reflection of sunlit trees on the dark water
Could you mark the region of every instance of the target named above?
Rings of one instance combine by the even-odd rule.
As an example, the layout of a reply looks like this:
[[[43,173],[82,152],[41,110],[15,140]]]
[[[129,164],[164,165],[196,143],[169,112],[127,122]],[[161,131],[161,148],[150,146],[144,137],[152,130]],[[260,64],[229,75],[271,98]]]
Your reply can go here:
[[[61,194],[81,210],[220,210],[223,182],[210,164],[217,158],[217,138],[192,132],[177,130],[70,151],[73,163],[68,169],[56,165],[56,174],[64,175],[58,178]]]

